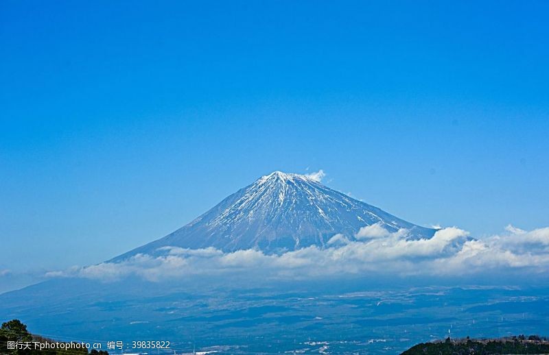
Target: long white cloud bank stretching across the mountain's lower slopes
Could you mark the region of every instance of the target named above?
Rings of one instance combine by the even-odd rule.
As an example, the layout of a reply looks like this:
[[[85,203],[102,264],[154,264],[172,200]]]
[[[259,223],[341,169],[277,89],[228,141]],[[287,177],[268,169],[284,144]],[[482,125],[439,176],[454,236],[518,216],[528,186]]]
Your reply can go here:
[[[248,249],[224,253],[215,248],[161,247],[159,255],[137,254],[123,262],[48,273],[49,277],[118,280],[139,276],[161,281],[193,276],[245,274],[263,278],[316,278],[341,274],[463,276],[506,273],[524,268],[549,271],[549,228],[507,228],[504,234],[474,239],[465,230],[443,228],[432,238],[413,240],[407,230],[382,225],[352,236],[335,234],[327,248],[307,247],[281,255]]]

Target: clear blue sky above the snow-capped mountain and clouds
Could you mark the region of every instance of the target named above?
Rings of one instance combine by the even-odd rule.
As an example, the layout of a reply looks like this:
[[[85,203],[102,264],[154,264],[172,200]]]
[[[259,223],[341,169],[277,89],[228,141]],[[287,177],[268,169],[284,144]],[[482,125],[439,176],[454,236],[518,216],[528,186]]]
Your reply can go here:
[[[547,1],[0,3],[0,269],[100,262],[274,170],[549,225]]]

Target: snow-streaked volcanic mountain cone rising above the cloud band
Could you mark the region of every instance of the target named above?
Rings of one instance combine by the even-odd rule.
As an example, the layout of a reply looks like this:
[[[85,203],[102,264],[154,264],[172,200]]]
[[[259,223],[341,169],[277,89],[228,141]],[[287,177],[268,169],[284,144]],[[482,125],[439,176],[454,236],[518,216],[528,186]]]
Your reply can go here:
[[[154,254],[167,246],[215,247],[224,252],[260,249],[266,254],[311,245],[323,248],[334,234],[353,240],[360,228],[374,223],[389,232],[406,228],[410,238],[430,238],[436,232],[332,190],[307,175],[274,171],[183,228],[111,261],[138,253]]]

